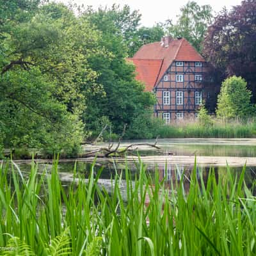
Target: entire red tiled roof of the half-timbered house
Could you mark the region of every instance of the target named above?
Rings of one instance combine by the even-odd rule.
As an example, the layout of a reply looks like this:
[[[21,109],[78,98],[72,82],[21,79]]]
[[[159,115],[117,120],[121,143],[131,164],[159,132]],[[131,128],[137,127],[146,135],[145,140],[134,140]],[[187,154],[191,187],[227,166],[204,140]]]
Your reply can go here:
[[[151,88],[154,88],[154,86],[159,83],[173,61],[205,61],[185,38],[170,40],[168,47],[164,47],[163,42],[143,45],[138,52],[134,54],[133,58],[129,60],[132,60],[134,65],[136,65],[136,71],[138,72],[136,78],[145,82],[147,90],[152,90]],[[150,61],[153,60],[162,61],[158,74],[157,67],[154,68],[154,72],[148,69]],[[150,78],[148,74],[150,74]],[[152,87],[153,81],[155,81],[155,83]]]

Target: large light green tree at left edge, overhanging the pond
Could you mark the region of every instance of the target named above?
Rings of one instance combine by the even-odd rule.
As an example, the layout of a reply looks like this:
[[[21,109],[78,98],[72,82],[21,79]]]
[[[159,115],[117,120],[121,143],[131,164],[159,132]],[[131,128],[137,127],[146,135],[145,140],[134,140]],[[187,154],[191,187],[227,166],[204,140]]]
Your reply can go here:
[[[88,55],[98,51],[97,32],[61,4],[38,6],[32,13],[25,8],[26,19],[22,9],[14,15],[12,8],[3,18],[0,40],[4,146],[76,154],[84,136],[86,95],[98,89],[88,65]]]

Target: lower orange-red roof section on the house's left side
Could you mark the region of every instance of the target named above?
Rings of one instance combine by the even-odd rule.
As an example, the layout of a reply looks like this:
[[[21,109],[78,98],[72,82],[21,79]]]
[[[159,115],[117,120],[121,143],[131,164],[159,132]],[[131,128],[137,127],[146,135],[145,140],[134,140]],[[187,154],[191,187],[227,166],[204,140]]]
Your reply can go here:
[[[147,60],[128,58],[136,67],[136,79],[145,83],[145,91],[152,92],[161,70],[162,60]]]

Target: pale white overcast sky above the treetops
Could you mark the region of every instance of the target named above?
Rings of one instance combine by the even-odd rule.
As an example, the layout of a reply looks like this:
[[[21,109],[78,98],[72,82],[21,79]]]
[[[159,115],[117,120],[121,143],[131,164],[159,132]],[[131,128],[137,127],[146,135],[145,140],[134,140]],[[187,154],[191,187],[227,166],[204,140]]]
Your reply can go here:
[[[55,0],[68,3],[70,0]],[[139,10],[141,17],[141,25],[153,26],[156,22],[164,22],[164,20],[175,20],[180,13],[180,7],[188,3],[188,0],[72,0],[77,4],[92,5],[94,8],[101,6],[111,6],[113,3],[128,4],[132,10]],[[214,12],[219,12],[224,6],[228,9],[231,6],[241,4],[241,0],[195,0],[198,4],[210,4]]]

